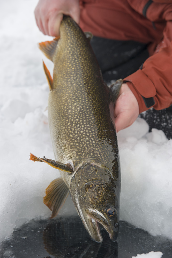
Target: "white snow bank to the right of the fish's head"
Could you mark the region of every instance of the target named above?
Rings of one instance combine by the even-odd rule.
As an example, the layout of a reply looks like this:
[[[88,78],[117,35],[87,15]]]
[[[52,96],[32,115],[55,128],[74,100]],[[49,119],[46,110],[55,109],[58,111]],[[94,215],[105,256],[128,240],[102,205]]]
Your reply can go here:
[[[140,130],[142,123],[145,121],[139,119]],[[145,136],[128,141],[127,130],[131,129],[120,132],[118,142],[122,169],[120,219],[153,235],[172,238],[172,140],[167,140],[162,131],[146,133],[145,129]]]

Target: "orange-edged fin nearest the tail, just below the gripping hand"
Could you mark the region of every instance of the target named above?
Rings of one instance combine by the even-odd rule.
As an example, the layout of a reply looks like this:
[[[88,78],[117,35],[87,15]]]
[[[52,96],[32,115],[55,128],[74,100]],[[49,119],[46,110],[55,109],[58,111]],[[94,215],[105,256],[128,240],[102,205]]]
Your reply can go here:
[[[60,37],[56,37],[52,41],[45,41],[45,42],[39,43],[39,49],[52,62],[53,62],[53,56],[54,56],[54,52],[56,50],[59,38]]]

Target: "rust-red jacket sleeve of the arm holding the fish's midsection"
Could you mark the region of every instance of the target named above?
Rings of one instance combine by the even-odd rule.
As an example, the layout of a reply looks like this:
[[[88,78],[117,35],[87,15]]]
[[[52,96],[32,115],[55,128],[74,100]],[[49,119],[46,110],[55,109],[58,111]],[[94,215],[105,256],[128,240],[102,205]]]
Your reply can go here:
[[[148,109],[142,96],[153,97],[156,110],[172,104],[172,7],[163,16],[166,27],[154,54],[144,62],[142,69],[124,79],[136,96],[140,113]]]

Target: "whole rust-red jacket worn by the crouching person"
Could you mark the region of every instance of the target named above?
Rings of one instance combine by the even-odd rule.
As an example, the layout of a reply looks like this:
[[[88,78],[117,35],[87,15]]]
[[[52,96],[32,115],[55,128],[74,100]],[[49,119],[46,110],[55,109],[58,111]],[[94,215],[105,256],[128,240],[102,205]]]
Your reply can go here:
[[[157,110],[172,104],[172,0],[80,0],[80,27],[98,37],[149,44],[151,55],[124,78],[139,103],[154,97]]]

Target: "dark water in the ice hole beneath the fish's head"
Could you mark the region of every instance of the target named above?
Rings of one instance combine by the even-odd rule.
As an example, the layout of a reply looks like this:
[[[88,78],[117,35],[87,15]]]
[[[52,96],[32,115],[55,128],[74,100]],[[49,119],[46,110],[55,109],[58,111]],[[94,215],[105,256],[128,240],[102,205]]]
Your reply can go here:
[[[102,229],[103,243],[92,241],[78,216],[31,220],[1,243],[1,258],[131,258],[138,253],[161,251],[172,257],[172,241],[120,221],[117,242]]]

